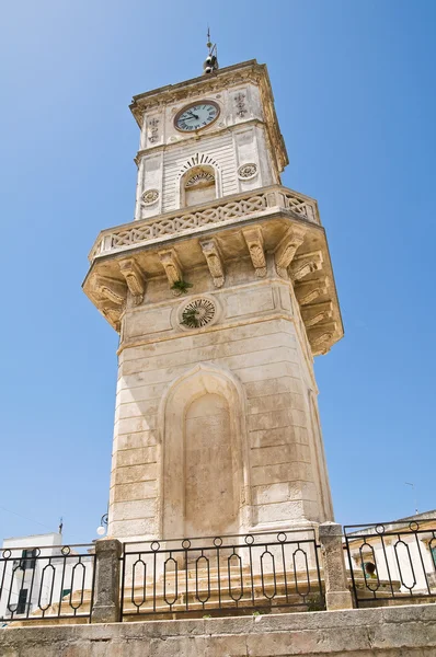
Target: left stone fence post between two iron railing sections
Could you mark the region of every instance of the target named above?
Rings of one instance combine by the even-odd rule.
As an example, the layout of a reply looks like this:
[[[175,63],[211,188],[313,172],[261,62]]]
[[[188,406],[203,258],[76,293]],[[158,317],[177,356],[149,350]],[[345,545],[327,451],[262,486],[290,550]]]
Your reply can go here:
[[[119,557],[122,543],[116,539],[95,542],[95,583],[92,623],[119,621]]]

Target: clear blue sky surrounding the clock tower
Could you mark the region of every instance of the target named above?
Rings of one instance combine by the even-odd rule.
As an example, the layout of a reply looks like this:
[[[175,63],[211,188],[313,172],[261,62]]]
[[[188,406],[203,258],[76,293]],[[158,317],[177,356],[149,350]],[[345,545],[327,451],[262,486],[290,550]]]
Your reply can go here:
[[[266,62],[288,153],[318,199],[345,338],[317,359],[336,519],[435,498],[433,0],[24,0],[2,8],[0,539],[95,538],[117,335],[81,291],[97,232],[130,221],[131,95]],[[8,510],[5,510],[8,509]],[[12,512],[13,511],[13,512]]]

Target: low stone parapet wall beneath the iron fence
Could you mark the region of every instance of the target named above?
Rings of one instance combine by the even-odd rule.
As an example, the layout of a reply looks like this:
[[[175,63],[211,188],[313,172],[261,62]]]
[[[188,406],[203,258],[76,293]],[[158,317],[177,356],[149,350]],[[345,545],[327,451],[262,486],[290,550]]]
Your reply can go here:
[[[0,630],[1,657],[431,657],[436,604]]]

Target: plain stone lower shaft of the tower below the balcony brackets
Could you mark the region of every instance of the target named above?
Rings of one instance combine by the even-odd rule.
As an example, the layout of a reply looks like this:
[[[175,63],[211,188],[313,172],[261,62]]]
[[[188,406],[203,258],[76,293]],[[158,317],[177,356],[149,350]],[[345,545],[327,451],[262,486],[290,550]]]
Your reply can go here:
[[[110,499],[112,537],[172,539],[305,528],[333,511],[312,355],[292,285],[229,264],[197,297],[151,280],[123,319]],[[162,297],[165,298],[162,301]],[[153,302],[156,299],[156,302]],[[158,302],[160,300],[160,302]],[[204,328],[186,306],[213,307]]]

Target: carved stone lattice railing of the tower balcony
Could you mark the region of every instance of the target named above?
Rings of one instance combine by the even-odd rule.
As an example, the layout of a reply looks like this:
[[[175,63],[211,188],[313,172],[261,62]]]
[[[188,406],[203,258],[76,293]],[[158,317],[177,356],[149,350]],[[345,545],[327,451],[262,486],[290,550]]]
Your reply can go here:
[[[263,187],[256,192],[236,194],[226,198],[217,198],[207,204],[194,206],[185,210],[175,210],[104,230],[94,244],[90,261],[97,255],[107,255],[113,251],[128,249],[134,245],[162,240],[164,238],[188,234],[204,226],[233,223],[239,219],[248,219],[251,215],[290,210],[301,219],[320,224],[317,201],[308,196],[297,194],[286,187]]]

